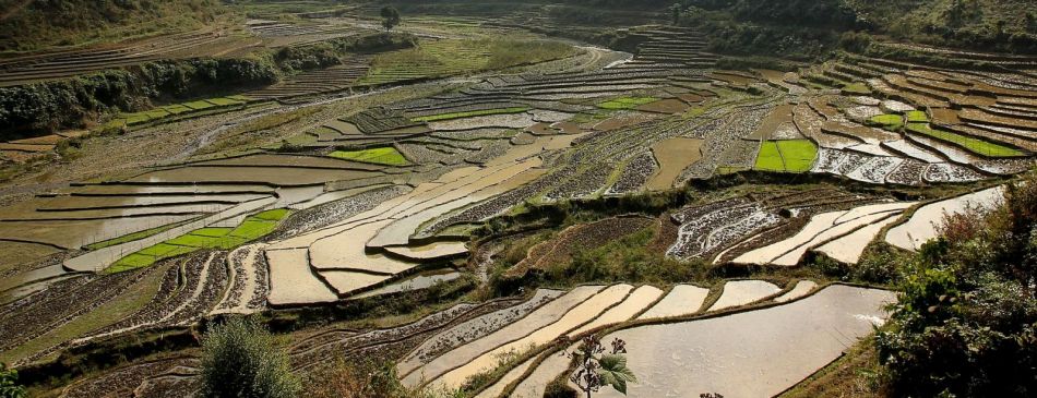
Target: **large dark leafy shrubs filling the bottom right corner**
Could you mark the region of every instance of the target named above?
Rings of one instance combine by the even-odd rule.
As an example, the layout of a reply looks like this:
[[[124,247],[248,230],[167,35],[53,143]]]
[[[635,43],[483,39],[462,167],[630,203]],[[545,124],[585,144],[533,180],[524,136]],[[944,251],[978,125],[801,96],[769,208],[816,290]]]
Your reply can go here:
[[[1037,179],[1002,206],[945,219],[903,265],[899,303],[877,337],[893,396],[1037,394]]]

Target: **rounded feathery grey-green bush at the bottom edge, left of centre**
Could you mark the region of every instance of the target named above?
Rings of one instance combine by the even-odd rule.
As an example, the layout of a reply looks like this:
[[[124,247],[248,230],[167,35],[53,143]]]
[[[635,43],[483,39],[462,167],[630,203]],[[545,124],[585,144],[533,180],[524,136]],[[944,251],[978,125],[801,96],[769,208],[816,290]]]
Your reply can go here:
[[[202,351],[202,397],[290,398],[301,390],[288,355],[254,321],[236,317],[213,326]]]

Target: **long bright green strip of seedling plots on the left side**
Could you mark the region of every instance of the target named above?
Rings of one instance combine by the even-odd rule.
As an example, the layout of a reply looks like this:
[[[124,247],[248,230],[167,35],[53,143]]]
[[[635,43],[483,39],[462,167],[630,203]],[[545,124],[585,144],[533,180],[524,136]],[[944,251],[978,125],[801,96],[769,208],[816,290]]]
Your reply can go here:
[[[247,217],[235,228],[206,227],[131,253],[105,269],[115,274],[155,264],[203,249],[230,250],[273,232],[288,209],[266,210]],[[140,238],[138,238],[140,239]]]

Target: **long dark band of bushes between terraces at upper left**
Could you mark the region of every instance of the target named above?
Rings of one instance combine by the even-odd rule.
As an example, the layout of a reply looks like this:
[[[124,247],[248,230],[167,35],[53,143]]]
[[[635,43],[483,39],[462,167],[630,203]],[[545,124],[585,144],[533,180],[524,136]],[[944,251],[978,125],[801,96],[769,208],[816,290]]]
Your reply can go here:
[[[284,48],[248,58],[155,61],[72,79],[0,88],[0,141],[80,129],[153,102],[236,93],[281,76],[341,63],[348,53],[414,46],[405,34],[374,34]]]

